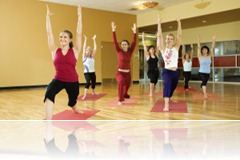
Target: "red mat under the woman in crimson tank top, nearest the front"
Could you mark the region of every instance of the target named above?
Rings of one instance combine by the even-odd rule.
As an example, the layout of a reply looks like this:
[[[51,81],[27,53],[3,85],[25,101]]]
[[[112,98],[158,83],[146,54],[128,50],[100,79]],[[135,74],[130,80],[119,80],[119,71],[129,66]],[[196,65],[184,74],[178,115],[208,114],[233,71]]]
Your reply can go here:
[[[72,110],[65,110],[53,116],[53,120],[86,120],[100,110],[83,110],[84,113],[76,114]]]

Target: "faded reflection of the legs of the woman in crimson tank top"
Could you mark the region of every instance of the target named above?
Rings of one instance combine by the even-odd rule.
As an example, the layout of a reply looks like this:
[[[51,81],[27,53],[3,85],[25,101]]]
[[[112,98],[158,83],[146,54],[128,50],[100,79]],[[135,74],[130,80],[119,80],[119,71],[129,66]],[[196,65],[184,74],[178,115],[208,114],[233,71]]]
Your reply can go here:
[[[45,133],[45,147],[51,158],[54,159],[75,159],[79,157],[79,146],[76,138],[76,131],[74,130],[68,135],[68,146],[65,151],[60,150],[56,146],[52,121],[46,122],[46,133]]]

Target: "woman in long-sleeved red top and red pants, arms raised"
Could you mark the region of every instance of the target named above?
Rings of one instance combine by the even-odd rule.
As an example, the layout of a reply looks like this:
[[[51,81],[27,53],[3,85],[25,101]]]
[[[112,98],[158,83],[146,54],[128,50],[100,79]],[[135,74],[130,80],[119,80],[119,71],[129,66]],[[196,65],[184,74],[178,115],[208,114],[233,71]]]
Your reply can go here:
[[[131,84],[131,57],[136,46],[137,36],[136,36],[136,24],[133,24],[133,41],[130,46],[128,40],[121,41],[121,47],[118,46],[117,36],[116,36],[116,25],[112,22],[112,34],[114,46],[117,52],[118,66],[116,79],[118,82],[118,105],[122,105],[124,98],[130,98],[128,94],[128,89]]]

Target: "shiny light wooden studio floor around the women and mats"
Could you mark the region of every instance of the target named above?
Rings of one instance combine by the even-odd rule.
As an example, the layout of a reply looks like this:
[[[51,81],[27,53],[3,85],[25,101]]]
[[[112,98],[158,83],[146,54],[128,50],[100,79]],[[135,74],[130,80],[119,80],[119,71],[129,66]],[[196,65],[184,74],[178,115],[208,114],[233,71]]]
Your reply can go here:
[[[195,92],[174,92],[173,101],[186,102],[186,113],[151,112],[154,104],[163,100],[162,82],[156,87],[159,95],[152,98],[147,96],[148,83],[133,84],[129,94],[131,98],[138,98],[139,101],[131,107],[107,106],[109,101],[117,98],[116,84],[97,85],[96,91],[106,95],[97,101],[78,101],[77,106],[82,110],[100,110],[89,120],[240,120],[240,85],[209,83],[207,92],[218,98],[207,100],[194,97],[195,94],[200,94],[199,85],[198,82],[190,83],[190,87],[196,89]],[[181,86],[183,83],[180,82],[179,87]],[[80,95],[83,90],[84,86],[80,86]],[[0,90],[0,119],[42,120],[45,118],[44,93],[45,88]],[[67,107],[65,91],[61,91],[55,100],[54,114],[70,109]]]

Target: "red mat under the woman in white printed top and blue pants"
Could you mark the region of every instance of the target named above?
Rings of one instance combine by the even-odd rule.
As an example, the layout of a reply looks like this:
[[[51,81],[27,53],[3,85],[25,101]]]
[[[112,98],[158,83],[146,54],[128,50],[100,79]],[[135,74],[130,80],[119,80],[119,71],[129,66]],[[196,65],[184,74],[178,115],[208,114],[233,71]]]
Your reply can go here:
[[[167,112],[188,113],[186,101],[177,101],[177,102],[170,101],[169,106],[170,106],[169,111]],[[163,108],[164,108],[164,101],[158,100],[153,106],[151,112],[166,112],[166,111],[163,111]]]

